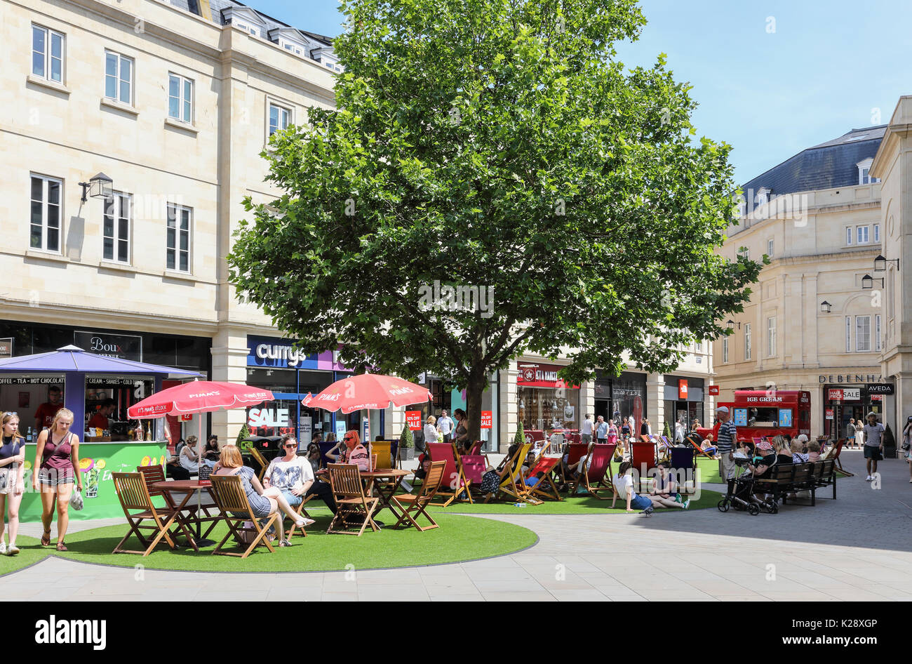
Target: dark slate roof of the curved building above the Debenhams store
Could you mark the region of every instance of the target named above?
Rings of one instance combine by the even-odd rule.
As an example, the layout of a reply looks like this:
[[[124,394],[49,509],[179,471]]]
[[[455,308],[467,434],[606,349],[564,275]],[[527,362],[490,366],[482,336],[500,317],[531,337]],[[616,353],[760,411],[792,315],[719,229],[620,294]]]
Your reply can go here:
[[[813,192],[858,184],[859,161],[874,159],[886,125],[851,130],[813,148],[802,150],[778,166],[741,185],[746,197],[762,187],[772,190],[771,198],[783,193]]]

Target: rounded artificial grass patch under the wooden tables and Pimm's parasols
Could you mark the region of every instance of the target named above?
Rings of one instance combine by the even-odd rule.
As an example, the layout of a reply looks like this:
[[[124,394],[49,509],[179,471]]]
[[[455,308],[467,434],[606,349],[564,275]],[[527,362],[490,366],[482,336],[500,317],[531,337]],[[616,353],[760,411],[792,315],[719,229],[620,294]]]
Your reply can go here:
[[[326,534],[331,516],[328,510],[308,509],[308,512],[316,519],[316,524],[308,526],[306,538],[295,535],[290,548],[279,548],[276,542],[275,554],[270,554],[264,546],[258,546],[243,560],[230,555],[211,555],[214,545],[201,548],[199,554],[189,547],[172,551],[167,545],[159,545],[146,557],[112,554],[114,546],[129,530],[126,523],[68,535],[69,550],[55,554],[85,563],[127,567],[144,565],[151,569],[314,572],[351,569],[347,565],[354,565],[355,569],[370,569],[455,563],[510,554],[534,545],[538,539],[531,530],[522,526],[458,514],[435,514],[434,520],[440,528],[423,533],[414,528],[393,530],[389,527],[374,533],[368,527],[360,537]],[[388,525],[395,523],[389,512],[379,514],[378,519]],[[426,524],[423,517],[421,519],[420,523]],[[226,526],[219,524],[210,534],[210,539],[219,542],[225,533]],[[143,548],[135,537],[131,537],[126,546]],[[235,546],[228,550],[243,552],[244,549]]]

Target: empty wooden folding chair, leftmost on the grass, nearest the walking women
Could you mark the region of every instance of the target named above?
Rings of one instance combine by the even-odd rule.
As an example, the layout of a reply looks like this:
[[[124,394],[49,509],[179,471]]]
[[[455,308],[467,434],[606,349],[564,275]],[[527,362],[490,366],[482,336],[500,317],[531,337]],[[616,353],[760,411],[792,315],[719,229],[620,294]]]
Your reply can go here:
[[[114,472],[111,473],[114,480],[114,491],[117,493],[120,506],[123,508],[123,514],[127,517],[127,523],[130,524],[130,531],[123,536],[123,539],[114,547],[112,553],[115,554],[140,554],[143,557],[150,555],[152,550],[161,542],[163,537],[165,542],[173,549],[176,545],[171,539],[169,530],[177,518],[177,510],[167,507],[156,507],[152,504],[149,495],[149,487],[146,485],[146,479],[141,472]],[[130,512],[130,510],[139,510],[139,512]],[[152,524],[142,524],[143,521],[150,519]],[[193,541],[193,535],[180,521],[178,527],[187,538],[188,542]],[[155,537],[151,540],[145,537],[140,531],[151,530]],[[140,544],[145,546],[144,551],[133,551],[121,548],[130,535],[135,534]],[[194,545],[195,546],[195,545]]]

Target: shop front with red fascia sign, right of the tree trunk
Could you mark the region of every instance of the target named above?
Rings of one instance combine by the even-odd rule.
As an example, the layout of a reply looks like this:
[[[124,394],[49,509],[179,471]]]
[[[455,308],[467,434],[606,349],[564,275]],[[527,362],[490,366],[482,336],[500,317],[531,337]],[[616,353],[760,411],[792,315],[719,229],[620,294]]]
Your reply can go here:
[[[525,431],[579,430],[579,386],[557,378],[557,365],[519,362],[516,405]]]

